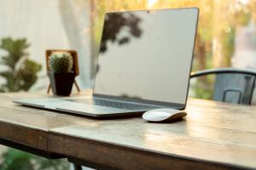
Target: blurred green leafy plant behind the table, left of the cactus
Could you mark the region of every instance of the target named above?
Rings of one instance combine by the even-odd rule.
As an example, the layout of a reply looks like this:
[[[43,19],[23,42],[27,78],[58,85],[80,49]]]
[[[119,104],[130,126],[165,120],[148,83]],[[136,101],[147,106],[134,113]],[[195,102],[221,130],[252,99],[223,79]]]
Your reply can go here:
[[[5,79],[0,92],[27,91],[38,80],[37,73],[41,65],[28,59],[28,47],[25,38],[14,40],[6,37],[1,40],[0,48],[6,54],[2,56],[0,64],[5,65],[6,69],[0,72],[0,76]]]

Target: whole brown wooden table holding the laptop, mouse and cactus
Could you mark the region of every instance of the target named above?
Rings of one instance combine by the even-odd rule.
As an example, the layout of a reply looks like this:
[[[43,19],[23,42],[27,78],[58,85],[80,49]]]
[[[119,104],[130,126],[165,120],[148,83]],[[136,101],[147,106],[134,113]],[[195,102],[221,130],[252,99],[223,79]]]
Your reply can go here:
[[[256,169],[256,107],[189,99],[182,122],[96,120],[12,103],[0,95],[2,144],[103,169]]]

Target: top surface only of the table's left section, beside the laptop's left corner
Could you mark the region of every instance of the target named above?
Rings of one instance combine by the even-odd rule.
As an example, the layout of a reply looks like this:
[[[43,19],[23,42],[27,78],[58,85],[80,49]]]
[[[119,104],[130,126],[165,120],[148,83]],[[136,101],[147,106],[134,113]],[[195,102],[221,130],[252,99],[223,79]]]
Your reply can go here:
[[[37,108],[20,106],[13,103],[19,98],[52,97],[41,94],[1,94],[0,95],[0,122],[29,127],[39,131],[48,132],[54,127],[65,127],[80,124],[84,120],[78,116],[61,114],[55,111],[38,110]]]

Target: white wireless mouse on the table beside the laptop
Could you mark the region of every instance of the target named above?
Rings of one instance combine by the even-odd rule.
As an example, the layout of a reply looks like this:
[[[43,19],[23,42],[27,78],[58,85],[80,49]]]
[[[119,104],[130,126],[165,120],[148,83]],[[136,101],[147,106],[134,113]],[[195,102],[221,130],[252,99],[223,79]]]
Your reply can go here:
[[[187,113],[169,108],[154,109],[146,111],[143,114],[143,119],[148,122],[166,122],[166,121],[177,121],[181,120]]]

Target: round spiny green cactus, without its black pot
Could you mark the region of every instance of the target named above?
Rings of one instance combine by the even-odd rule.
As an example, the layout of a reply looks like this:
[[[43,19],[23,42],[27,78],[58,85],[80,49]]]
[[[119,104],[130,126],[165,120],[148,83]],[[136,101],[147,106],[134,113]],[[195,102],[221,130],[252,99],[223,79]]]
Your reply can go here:
[[[70,72],[73,69],[73,57],[68,52],[53,52],[49,56],[49,70]]]

